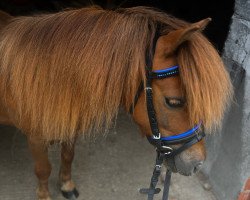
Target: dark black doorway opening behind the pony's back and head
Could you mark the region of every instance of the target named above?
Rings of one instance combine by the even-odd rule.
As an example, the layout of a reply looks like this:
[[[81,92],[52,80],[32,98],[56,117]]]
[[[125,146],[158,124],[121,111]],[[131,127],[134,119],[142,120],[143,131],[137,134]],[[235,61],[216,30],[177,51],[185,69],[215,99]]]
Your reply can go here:
[[[0,9],[12,15],[57,12],[67,7],[97,4],[105,8],[153,6],[189,22],[211,17],[205,35],[222,52],[234,11],[234,0],[1,0]]]

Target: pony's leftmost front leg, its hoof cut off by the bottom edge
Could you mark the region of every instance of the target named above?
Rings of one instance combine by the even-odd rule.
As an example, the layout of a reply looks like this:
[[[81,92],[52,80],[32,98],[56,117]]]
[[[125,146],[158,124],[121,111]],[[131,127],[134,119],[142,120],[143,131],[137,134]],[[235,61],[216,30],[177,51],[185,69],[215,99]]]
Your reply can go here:
[[[50,200],[48,179],[51,173],[51,165],[48,159],[48,145],[36,136],[28,137],[29,148],[35,162],[35,174],[38,178],[38,200]]]

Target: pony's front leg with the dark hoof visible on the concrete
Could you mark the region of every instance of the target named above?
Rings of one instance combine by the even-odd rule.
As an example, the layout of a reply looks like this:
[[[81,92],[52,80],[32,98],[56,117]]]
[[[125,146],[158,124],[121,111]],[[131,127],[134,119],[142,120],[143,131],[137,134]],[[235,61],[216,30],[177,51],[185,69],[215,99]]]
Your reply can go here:
[[[79,193],[71,179],[71,165],[74,159],[75,140],[72,142],[62,142],[61,146],[61,168],[59,173],[61,191],[65,198],[76,199]]]

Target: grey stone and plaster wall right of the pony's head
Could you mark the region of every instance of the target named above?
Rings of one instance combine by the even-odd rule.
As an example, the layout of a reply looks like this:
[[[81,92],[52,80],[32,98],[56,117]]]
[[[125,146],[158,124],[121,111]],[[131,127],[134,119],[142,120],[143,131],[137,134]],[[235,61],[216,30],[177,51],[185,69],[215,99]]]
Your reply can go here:
[[[250,0],[236,0],[231,23],[223,58],[235,87],[235,102],[222,131],[207,138],[204,168],[219,200],[236,200],[250,177]]]

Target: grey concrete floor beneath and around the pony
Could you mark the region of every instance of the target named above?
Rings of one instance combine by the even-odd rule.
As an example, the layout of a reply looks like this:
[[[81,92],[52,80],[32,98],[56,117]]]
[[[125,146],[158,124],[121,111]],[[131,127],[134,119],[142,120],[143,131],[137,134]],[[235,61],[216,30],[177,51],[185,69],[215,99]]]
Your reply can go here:
[[[34,200],[36,178],[25,136],[6,126],[0,127],[0,132],[0,200]],[[59,150],[58,145],[50,149],[53,200],[63,200],[57,184]],[[149,185],[154,159],[153,147],[141,138],[131,119],[121,114],[107,137],[77,141],[73,177],[80,192],[78,199],[146,200],[138,190]],[[216,200],[211,190],[204,189],[204,183],[202,174],[174,174],[170,200]],[[155,198],[160,199],[161,195]]]

